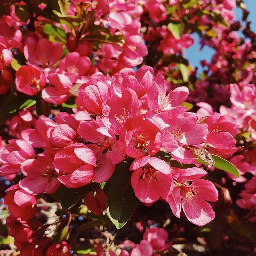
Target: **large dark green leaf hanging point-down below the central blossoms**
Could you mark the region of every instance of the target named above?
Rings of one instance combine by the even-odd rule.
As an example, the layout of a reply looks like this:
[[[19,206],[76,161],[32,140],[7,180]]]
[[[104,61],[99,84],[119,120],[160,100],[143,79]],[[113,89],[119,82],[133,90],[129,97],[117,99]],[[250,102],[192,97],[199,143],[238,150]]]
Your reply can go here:
[[[132,216],[139,199],[131,185],[130,164],[122,162],[116,165],[115,173],[108,184],[107,212],[117,229],[122,228]]]

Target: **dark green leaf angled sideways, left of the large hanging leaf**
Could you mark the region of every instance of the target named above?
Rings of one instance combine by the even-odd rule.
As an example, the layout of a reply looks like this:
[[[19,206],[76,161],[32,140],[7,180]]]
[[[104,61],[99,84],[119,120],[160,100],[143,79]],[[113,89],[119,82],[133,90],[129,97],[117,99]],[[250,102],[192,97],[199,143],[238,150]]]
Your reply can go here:
[[[90,193],[100,183],[91,182],[88,185],[80,188],[65,188],[61,195],[60,203],[63,209],[70,209],[85,195]]]

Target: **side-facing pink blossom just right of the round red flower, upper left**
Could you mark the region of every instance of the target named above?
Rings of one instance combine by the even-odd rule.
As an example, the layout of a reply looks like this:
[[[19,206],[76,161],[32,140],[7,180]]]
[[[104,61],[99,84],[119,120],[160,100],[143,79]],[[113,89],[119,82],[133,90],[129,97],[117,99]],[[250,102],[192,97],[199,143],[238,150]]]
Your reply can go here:
[[[71,95],[69,89],[73,87],[68,76],[52,73],[47,76],[49,84],[53,86],[46,87],[42,90],[42,98],[52,104],[60,105]]]

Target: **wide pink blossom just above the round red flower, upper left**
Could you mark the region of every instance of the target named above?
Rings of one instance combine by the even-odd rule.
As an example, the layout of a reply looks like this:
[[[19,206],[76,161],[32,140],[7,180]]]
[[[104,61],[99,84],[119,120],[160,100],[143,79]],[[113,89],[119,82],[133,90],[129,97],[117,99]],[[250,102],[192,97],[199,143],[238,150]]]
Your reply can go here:
[[[30,44],[24,46],[24,56],[28,64],[43,69],[53,66],[60,59],[62,51],[61,44],[52,43],[46,38],[41,38],[38,42],[31,39]]]

